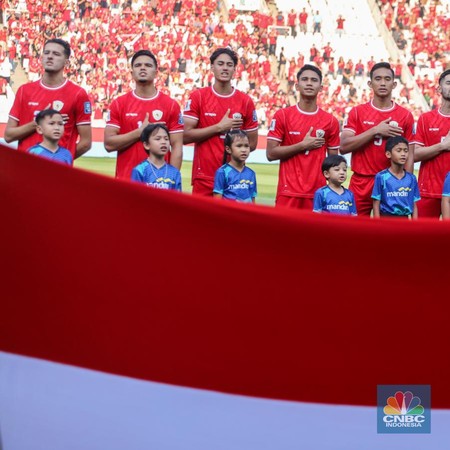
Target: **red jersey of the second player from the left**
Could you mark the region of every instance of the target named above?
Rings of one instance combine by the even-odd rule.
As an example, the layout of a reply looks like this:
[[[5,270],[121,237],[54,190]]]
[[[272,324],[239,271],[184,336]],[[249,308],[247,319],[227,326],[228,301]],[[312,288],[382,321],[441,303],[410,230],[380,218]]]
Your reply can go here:
[[[150,123],[164,124],[171,134],[182,133],[184,130],[180,106],[174,99],[159,91],[152,98],[138,97],[134,91],[116,98],[111,103],[106,126],[118,128],[120,134],[126,134],[140,128],[147,113]],[[133,168],[147,156],[141,141],[120,150],[117,153],[116,177],[129,180]]]

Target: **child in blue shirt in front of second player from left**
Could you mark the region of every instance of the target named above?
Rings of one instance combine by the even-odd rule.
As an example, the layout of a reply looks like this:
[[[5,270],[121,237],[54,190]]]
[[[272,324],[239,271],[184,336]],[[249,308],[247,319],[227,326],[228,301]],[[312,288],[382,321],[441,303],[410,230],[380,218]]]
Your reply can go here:
[[[181,191],[180,171],[164,160],[170,150],[169,130],[160,123],[147,125],[141,142],[148,158],[133,168],[131,179],[157,189]]]

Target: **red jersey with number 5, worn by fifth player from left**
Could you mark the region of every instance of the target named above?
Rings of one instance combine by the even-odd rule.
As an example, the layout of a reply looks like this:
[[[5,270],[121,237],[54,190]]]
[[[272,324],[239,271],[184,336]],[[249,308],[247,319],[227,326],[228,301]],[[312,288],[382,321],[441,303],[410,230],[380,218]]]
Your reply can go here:
[[[343,131],[351,131],[355,135],[373,128],[383,120],[391,118],[403,128],[403,137],[411,142],[414,129],[414,118],[410,111],[392,102],[389,109],[378,109],[372,102],[354,106],[344,122]],[[376,137],[361,150],[352,153],[351,166],[353,172],[360,175],[376,175],[389,167],[384,147],[387,138]]]

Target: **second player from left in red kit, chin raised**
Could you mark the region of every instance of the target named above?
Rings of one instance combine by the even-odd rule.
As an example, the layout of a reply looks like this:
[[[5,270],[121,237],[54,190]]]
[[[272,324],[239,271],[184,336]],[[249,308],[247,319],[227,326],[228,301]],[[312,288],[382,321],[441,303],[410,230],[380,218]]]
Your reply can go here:
[[[133,168],[146,158],[140,137],[150,123],[161,123],[169,130],[171,152],[166,161],[181,167],[183,116],[178,103],[156,88],[157,73],[155,55],[149,50],[137,51],[131,58],[136,87],[111,103],[104,141],[108,152],[117,152],[117,178],[129,180]]]

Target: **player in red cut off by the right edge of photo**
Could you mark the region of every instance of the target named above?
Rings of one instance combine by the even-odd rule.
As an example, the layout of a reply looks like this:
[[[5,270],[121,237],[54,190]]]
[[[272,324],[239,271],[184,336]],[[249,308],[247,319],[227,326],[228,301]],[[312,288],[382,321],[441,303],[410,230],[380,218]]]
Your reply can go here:
[[[450,171],[450,69],[439,77],[441,106],[423,113],[413,139],[414,159],[420,161],[419,218],[441,215],[442,186]]]

